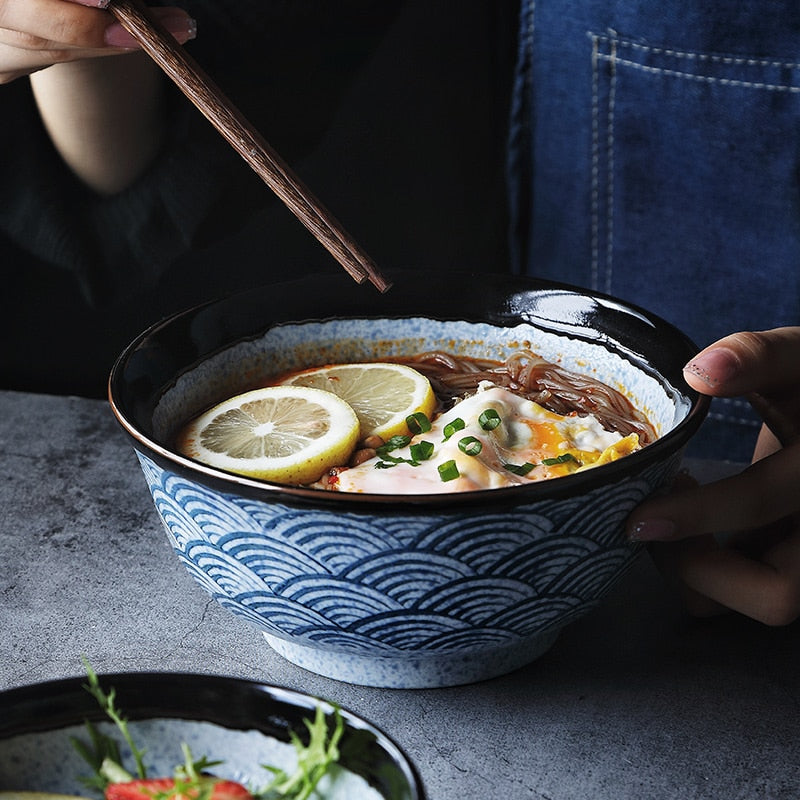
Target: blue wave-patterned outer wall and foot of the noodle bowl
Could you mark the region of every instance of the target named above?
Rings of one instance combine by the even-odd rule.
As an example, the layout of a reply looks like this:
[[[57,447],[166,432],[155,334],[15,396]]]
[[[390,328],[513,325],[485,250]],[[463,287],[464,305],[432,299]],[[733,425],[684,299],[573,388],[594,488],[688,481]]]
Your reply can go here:
[[[397,688],[493,677],[546,651],[631,563],[625,518],[680,460],[511,511],[386,508],[377,528],[211,491],[138,456],[175,552],[221,605],[300,666]]]

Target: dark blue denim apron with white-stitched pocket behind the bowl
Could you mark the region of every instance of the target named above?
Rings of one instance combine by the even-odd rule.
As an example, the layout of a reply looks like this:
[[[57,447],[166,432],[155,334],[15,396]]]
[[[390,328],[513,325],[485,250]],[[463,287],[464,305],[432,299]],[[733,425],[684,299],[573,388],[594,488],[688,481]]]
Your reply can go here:
[[[800,324],[800,3],[522,0],[520,19],[516,270],[699,346]],[[715,400],[690,452],[745,460],[759,424]]]

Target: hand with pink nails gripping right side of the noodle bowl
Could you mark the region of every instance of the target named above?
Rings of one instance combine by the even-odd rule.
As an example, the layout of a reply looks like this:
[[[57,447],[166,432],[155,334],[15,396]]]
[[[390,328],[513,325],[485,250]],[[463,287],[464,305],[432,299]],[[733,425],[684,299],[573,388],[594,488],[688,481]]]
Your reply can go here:
[[[800,328],[789,327],[725,337],[687,366],[693,388],[747,396],[765,421],[747,469],[646,502],[628,522],[696,615],[734,609],[769,625],[800,615],[798,354]]]

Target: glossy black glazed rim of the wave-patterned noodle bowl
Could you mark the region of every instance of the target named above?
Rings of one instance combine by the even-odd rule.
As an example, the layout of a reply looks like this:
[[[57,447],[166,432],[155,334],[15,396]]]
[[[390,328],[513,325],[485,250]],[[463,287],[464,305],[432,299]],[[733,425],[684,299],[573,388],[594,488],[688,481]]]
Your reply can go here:
[[[696,345],[664,319],[609,295],[533,278],[468,273],[397,271],[385,294],[347,275],[320,275],[270,284],[180,312],[152,326],[123,351],[109,378],[109,400],[134,447],[163,468],[212,489],[295,506],[354,513],[402,505],[405,511],[443,506],[518,506],[578,495],[635,475],[685,446],[708,410],[707,397],[682,379]],[[690,411],[672,431],[619,461],[554,481],[488,491],[394,495],[326,492],[284,486],[224,472],[178,455],[145,433],[146,422],[176,378],[236,342],[256,339],[274,325],[334,318],[430,317],[529,323],[548,332],[601,344],[662,383],[681,387]],[[144,422],[144,424],[143,424]]]

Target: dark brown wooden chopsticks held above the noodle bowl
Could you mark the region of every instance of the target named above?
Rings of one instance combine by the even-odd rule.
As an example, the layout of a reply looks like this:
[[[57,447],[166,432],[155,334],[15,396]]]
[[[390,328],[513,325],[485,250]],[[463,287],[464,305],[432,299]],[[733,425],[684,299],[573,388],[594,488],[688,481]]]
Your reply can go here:
[[[372,259],[141,0],[111,0],[108,10],[358,283],[369,280],[381,292],[391,286]]]

